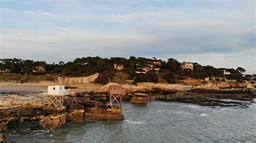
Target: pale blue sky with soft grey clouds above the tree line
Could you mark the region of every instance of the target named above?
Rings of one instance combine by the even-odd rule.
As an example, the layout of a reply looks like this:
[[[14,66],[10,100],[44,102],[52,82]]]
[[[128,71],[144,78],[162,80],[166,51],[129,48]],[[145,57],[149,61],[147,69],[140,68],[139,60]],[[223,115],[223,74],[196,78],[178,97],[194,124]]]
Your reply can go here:
[[[142,56],[256,74],[254,0],[0,2],[0,59]]]

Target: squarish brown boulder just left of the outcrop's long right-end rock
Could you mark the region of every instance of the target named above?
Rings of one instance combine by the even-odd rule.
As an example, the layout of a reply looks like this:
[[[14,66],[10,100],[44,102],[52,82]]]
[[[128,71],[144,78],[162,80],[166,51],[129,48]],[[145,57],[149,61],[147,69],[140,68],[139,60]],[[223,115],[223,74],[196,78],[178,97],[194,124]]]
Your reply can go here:
[[[81,104],[76,104],[73,106],[70,106],[67,120],[70,122],[83,122],[84,121],[84,106]]]

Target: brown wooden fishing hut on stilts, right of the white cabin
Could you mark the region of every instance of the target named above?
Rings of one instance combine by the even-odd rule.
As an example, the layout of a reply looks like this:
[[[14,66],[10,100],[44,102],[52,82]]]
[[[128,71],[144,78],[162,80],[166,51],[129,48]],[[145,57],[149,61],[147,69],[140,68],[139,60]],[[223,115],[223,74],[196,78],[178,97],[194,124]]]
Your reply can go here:
[[[126,92],[123,89],[122,85],[112,85],[109,87],[109,103],[107,103],[107,106],[112,106],[112,103],[116,101],[119,103],[120,108],[122,110],[122,95],[125,95]],[[118,101],[119,98],[119,101]],[[106,107],[107,107],[106,106]]]

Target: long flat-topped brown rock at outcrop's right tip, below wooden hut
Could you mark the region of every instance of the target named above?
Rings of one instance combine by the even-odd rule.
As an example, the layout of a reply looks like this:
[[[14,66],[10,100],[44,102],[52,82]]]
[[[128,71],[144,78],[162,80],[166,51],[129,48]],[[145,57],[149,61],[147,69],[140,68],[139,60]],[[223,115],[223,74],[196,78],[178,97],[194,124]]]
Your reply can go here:
[[[85,109],[85,119],[86,120],[96,120],[96,119],[107,119],[107,120],[122,120],[124,115],[122,110],[117,106],[112,106],[112,108],[102,109],[102,108],[87,108]]]

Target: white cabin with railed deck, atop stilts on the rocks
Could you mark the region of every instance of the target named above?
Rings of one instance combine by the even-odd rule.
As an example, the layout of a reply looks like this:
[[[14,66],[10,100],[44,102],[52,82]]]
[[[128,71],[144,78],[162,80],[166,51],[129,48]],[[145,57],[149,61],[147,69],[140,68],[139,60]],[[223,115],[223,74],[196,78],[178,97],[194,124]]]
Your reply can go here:
[[[69,95],[69,90],[65,90],[64,85],[48,86],[48,90],[44,90],[44,95]]]

